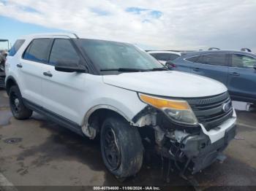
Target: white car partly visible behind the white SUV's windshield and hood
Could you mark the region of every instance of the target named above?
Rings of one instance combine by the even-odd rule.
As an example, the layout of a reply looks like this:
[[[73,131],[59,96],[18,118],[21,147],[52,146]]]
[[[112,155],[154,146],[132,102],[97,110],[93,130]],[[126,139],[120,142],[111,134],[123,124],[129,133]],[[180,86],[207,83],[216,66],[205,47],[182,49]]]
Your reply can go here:
[[[148,54],[153,56],[162,64],[165,64],[167,61],[173,61],[176,58],[181,56],[181,52],[174,52],[174,51],[148,51]]]

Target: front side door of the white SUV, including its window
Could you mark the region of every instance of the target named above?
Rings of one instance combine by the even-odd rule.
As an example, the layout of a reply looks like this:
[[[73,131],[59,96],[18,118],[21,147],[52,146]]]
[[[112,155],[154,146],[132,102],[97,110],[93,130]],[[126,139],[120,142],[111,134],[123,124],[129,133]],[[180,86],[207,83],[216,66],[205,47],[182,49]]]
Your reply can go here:
[[[82,60],[72,40],[61,37],[54,39],[49,62],[42,66],[43,106],[50,112],[77,123],[80,123],[82,101],[86,100],[83,96],[86,74],[56,71],[55,66],[56,63],[77,66]]]

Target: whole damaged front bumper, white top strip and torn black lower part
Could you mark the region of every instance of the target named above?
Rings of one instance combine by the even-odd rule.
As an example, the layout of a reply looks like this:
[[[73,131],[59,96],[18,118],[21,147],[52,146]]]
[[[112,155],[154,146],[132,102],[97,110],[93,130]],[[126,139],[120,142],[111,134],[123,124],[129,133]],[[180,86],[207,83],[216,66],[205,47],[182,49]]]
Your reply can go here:
[[[222,151],[236,136],[236,112],[217,128],[207,131],[203,125],[200,126],[200,133],[197,134],[175,130],[166,141],[168,144],[159,149],[161,155],[175,161],[181,174],[187,170],[195,174],[215,161],[225,159]]]

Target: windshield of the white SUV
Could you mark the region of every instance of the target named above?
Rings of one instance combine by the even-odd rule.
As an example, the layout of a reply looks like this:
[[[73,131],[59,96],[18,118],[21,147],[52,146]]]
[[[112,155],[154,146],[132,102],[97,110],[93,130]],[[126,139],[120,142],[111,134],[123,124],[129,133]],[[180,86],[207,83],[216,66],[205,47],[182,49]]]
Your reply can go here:
[[[94,39],[79,39],[78,42],[99,71],[150,71],[163,67],[132,44]]]

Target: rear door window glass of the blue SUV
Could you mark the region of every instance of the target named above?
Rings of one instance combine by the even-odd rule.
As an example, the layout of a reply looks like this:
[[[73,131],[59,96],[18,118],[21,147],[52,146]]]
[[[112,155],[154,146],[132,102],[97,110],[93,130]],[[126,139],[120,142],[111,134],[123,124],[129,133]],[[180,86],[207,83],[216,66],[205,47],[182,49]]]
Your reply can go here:
[[[207,54],[200,55],[197,63],[215,65],[215,66],[227,66],[227,54],[217,53],[217,54]]]

